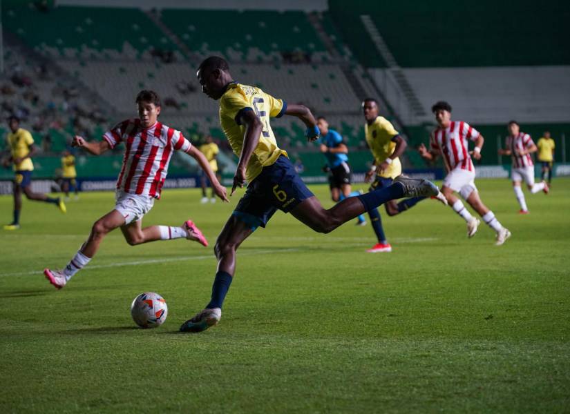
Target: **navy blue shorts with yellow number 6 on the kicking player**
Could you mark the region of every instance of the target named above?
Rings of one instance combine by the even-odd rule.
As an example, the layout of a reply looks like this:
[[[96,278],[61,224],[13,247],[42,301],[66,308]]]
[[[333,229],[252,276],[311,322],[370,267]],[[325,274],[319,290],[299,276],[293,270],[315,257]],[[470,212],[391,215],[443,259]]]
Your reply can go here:
[[[275,164],[264,167],[254,181],[247,186],[233,215],[251,226],[265,227],[277,210],[289,213],[301,201],[313,197],[293,164],[281,155]]]

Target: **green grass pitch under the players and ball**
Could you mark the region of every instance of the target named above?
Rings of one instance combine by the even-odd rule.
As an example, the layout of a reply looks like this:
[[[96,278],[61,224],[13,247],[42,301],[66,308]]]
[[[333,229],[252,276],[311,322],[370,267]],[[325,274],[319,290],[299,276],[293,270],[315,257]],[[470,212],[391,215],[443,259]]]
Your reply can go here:
[[[240,248],[220,324],[194,335],[178,328],[208,302],[211,248],[131,247],[117,230],[57,291],[41,270],[68,262],[113,195],[65,216],[24,201],[21,230],[0,230],[0,411],[569,412],[570,180],[526,193],[528,216],[509,181],[477,185],[513,233],[504,246],[484,225],[467,239],[436,201],[384,214],[395,250],[376,255],[370,225],[321,235],[276,213]],[[199,199],[165,190],[144,223],[191,217],[213,245],[237,199]],[[0,197],[4,223],[11,210]],[[155,330],[129,313],[144,291],[169,305]]]

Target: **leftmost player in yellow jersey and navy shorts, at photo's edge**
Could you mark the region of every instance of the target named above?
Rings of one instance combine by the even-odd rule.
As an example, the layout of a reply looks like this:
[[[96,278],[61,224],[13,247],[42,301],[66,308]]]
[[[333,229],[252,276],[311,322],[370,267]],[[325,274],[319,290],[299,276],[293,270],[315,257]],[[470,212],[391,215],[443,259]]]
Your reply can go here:
[[[14,216],[12,223],[4,226],[4,230],[17,230],[20,228],[22,192],[28,200],[54,204],[61,210],[61,213],[66,213],[66,205],[60,198],[52,198],[32,191],[32,171],[34,170],[32,157],[37,151],[34,139],[30,131],[20,128],[20,119],[18,117],[13,115],[9,117],[8,126],[10,127],[10,132],[8,133],[7,141],[10,148],[10,157],[3,160],[3,165],[8,168],[12,164],[15,172],[13,184]]]

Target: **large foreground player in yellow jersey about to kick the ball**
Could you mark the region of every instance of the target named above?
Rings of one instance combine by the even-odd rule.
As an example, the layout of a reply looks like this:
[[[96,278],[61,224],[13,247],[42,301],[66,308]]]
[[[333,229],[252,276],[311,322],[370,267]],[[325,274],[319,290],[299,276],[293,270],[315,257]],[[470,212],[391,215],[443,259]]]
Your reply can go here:
[[[305,136],[314,141],[319,137],[319,128],[311,111],[303,105],[287,105],[260,88],[237,83],[229,73],[227,61],[220,57],[202,61],[196,76],[202,92],[211,99],[220,100],[220,124],[239,157],[231,195],[236,188],[243,187],[245,181],[248,186],[216,240],[214,253],[218,271],[211,300],[203,311],[184,322],[180,331],[200,332],[218,323],[222,302],[236,271],[238,246],[258,226],[265,227],[276,210],[290,212],[313,230],[329,233],[391,199],[437,195],[439,192],[437,186],[427,180],[398,177],[392,186],[349,197],[326,210],[305,186],[287,152],[277,146],[269,124],[270,117],[292,115],[303,121],[307,127]]]

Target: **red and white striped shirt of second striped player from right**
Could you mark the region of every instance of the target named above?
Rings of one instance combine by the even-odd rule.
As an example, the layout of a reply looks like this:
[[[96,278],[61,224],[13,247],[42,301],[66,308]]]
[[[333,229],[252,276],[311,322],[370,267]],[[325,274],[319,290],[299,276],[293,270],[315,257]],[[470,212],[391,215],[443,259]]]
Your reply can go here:
[[[448,171],[453,168],[475,171],[467,150],[467,140],[475,141],[479,131],[464,121],[451,121],[447,128],[435,129],[430,137],[430,148],[445,158]]]

